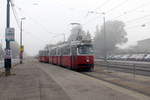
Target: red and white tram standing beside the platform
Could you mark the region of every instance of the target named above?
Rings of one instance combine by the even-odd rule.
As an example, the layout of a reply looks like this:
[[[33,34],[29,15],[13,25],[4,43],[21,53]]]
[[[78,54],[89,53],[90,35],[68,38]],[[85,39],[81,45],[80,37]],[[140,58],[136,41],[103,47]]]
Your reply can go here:
[[[72,41],[54,46],[45,55],[49,63],[64,66],[70,69],[89,69],[94,68],[93,45],[91,42]],[[39,57],[42,58],[41,56]],[[47,62],[47,59],[42,62]]]

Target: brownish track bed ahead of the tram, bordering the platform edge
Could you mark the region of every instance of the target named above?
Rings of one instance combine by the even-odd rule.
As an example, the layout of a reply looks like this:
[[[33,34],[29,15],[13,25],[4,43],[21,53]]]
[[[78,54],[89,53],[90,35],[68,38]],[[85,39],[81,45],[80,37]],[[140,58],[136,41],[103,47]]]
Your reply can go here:
[[[112,72],[113,73],[113,72]],[[138,81],[136,79],[127,79],[121,76],[113,75],[111,72],[81,72],[81,74],[87,75],[89,77],[102,80],[129,90],[136,91],[138,93],[150,96],[150,80],[148,83],[144,81]]]

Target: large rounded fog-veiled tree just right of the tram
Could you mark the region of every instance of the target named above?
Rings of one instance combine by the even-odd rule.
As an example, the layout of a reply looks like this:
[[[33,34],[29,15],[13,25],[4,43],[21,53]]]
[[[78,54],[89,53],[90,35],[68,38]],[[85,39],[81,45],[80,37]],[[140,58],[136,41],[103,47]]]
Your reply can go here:
[[[105,56],[105,52],[112,53],[118,49],[117,45],[125,44],[128,39],[124,27],[125,24],[121,21],[107,21],[101,30],[97,26],[94,37],[96,55]]]

